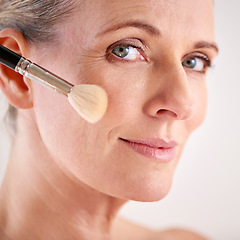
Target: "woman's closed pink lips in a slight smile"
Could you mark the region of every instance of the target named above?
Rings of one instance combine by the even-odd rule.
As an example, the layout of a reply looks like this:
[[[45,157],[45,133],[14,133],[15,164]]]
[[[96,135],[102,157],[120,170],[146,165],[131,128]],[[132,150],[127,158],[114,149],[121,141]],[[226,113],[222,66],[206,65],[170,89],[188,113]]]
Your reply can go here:
[[[176,154],[177,143],[163,139],[124,139],[120,140],[133,151],[159,162],[170,162]]]

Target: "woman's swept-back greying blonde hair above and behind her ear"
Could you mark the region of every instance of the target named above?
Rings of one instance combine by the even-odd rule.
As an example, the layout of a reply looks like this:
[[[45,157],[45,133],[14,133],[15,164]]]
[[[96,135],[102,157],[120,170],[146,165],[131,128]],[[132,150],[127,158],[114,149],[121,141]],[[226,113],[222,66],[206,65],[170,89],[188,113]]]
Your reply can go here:
[[[78,0],[0,0],[0,30],[13,28],[26,41],[55,42],[56,24],[70,16]],[[17,110],[9,105],[5,116],[14,127]]]

